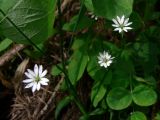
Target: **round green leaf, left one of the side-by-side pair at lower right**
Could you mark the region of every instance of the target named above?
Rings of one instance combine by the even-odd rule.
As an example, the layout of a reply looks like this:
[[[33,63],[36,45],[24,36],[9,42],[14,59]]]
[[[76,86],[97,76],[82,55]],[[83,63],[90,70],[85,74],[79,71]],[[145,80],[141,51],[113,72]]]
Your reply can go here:
[[[118,87],[113,88],[107,95],[107,104],[113,110],[122,110],[127,108],[132,102],[130,91]]]

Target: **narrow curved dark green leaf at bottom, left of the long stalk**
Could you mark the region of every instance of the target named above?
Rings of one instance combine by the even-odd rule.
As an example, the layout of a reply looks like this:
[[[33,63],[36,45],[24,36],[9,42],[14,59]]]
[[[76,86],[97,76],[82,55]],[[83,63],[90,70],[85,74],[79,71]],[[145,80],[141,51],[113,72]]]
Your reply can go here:
[[[67,96],[63,98],[57,105],[56,110],[55,110],[55,119],[57,120],[60,112],[64,107],[66,107],[70,102],[72,101],[72,98],[70,96]]]

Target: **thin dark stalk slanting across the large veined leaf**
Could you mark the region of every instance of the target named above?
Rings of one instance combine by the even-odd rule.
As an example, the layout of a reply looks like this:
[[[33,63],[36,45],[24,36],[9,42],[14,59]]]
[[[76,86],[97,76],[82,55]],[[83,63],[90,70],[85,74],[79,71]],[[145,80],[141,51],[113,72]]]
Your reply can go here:
[[[32,42],[32,40],[30,40],[30,38],[28,38],[27,35],[25,35],[23,33],[23,31],[5,14],[5,12],[0,9],[0,12],[2,13],[2,15],[16,28],[16,30],[21,34],[23,35],[23,37],[28,41],[30,42],[37,50],[39,50],[40,52],[44,53],[34,42]]]

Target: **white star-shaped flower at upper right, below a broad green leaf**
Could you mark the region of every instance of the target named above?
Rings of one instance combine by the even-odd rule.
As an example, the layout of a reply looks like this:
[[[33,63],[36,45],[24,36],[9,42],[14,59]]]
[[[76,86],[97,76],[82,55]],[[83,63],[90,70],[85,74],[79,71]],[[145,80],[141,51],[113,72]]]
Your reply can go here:
[[[119,31],[119,33],[121,33],[123,31],[128,32],[128,30],[132,29],[131,27],[129,27],[132,22],[128,22],[129,18],[125,19],[124,15],[121,18],[117,16],[117,18],[112,19],[112,21],[114,22],[114,24],[112,24],[112,26],[115,27],[114,31]]]

